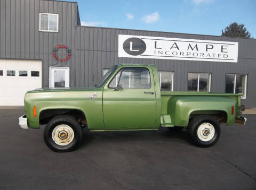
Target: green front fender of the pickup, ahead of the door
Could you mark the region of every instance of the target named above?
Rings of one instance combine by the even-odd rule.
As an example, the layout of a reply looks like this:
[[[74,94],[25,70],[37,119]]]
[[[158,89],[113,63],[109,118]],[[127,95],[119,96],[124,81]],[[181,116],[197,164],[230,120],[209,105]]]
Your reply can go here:
[[[104,129],[102,113],[102,91],[98,90],[97,96],[87,98],[88,91],[63,91],[27,93],[25,96],[25,111],[28,126],[39,128],[39,115],[47,109],[77,109],[84,113],[89,129]],[[36,117],[33,108],[36,106]]]

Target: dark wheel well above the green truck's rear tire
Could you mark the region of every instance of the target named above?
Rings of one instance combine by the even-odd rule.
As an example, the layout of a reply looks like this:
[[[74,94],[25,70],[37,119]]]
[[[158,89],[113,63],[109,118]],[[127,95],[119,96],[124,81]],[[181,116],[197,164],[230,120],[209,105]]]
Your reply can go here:
[[[219,123],[227,123],[228,115],[226,111],[193,111],[189,119],[193,119],[198,115],[210,115],[214,119],[216,119]]]

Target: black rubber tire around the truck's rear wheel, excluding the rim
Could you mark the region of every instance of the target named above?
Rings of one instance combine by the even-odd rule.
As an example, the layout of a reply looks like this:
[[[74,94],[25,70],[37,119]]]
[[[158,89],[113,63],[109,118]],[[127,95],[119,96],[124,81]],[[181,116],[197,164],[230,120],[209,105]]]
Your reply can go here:
[[[197,130],[198,130],[198,127],[201,126],[201,124],[203,124],[203,123],[210,123],[214,127],[215,133],[214,133],[213,137],[211,139],[209,139],[209,141],[202,141],[201,139],[199,139]],[[207,129],[206,129],[206,131],[207,131]],[[204,132],[202,131],[202,133],[204,133]],[[190,139],[197,146],[200,146],[203,148],[210,147],[210,146],[214,145],[219,140],[220,124],[218,123],[218,121],[216,119],[214,119],[213,117],[211,117],[209,115],[201,115],[201,116],[194,117],[188,125],[188,135],[189,135]]]

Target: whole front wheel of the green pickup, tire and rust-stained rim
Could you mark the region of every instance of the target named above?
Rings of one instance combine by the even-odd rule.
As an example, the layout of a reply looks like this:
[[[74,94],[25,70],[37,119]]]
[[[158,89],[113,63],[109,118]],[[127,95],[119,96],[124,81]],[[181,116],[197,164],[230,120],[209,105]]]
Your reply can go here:
[[[55,152],[74,150],[82,141],[82,127],[68,115],[56,116],[44,129],[44,141]]]

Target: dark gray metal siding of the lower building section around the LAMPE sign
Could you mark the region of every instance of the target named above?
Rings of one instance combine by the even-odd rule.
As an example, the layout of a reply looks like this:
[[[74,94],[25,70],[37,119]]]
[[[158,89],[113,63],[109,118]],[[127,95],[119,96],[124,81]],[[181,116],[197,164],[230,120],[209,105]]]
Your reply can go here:
[[[183,61],[167,59],[122,58],[118,57],[118,34],[156,36],[202,40],[238,42],[238,63]],[[118,63],[154,64],[159,71],[174,71],[174,91],[187,91],[189,72],[211,73],[211,91],[225,92],[226,73],[247,74],[246,107],[256,107],[256,40],[203,36],[196,34],[110,29],[97,27],[76,27],[76,85],[92,86],[103,74],[103,68]]]

